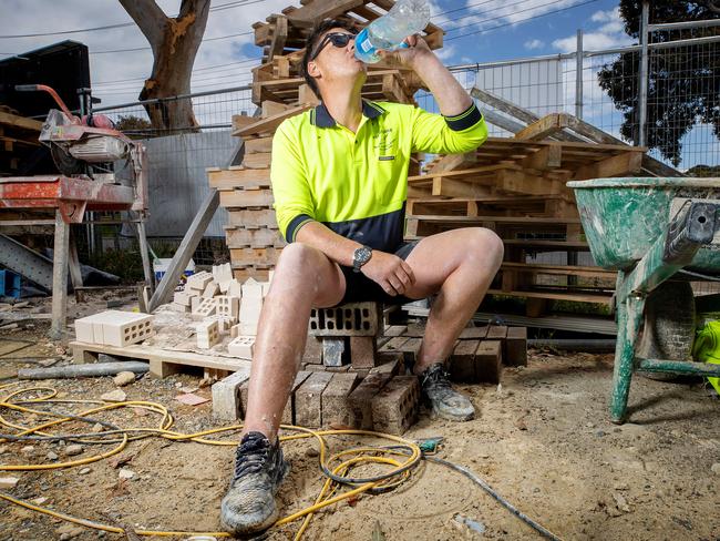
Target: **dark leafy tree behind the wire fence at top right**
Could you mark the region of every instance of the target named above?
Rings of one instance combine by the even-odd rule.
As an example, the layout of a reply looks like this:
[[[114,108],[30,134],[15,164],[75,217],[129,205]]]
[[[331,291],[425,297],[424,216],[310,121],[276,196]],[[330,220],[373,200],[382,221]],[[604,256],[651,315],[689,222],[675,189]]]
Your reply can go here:
[[[698,21],[720,18],[717,0],[656,0],[650,2],[650,22]],[[639,41],[641,0],[620,0],[625,31]],[[718,35],[720,27],[659,31],[651,43]],[[656,49],[648,62],[648,109],[646,144],[658,149],[676,166],[680,163],[680,140],[696,123],[708,123],[720,136],[720,48],[718,43]],[[640,53],[623,53],[598,73],[600,86],[609,94],[625,120],[620,133],[638,140]]]

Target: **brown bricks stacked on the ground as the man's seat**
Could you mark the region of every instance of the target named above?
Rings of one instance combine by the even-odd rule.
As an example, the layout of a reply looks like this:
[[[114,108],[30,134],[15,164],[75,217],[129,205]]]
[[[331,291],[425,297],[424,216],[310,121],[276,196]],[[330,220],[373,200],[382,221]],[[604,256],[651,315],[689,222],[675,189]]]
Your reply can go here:
[[[312,310],[302,368],[281,422],[404,432],[416,419],[420,387],[416,377],[405,376],[402,353],[378,353],[382,328],[376,303]],[[214,388],[215,415],[228,421],[243,419],[248,390],[249,380],[243,376],[220,381],[218,390]]]

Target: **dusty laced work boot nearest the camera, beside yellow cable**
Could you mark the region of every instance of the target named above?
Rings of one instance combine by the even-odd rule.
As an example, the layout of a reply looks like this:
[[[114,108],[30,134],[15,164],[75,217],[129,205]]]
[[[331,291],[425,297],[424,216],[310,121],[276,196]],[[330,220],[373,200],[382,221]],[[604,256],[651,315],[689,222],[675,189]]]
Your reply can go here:
[[[268,529],[278,520],[275,494],[289,471],[279,441],[260,432],[243,437],[235,455],[235,474],[220,503],[220,524],[234,534]]]

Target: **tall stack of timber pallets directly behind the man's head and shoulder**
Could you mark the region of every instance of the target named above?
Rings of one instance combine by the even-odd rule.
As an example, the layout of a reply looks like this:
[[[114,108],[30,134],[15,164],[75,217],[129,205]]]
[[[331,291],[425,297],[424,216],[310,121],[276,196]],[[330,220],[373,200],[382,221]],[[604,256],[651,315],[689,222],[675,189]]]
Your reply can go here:
[[[233,116],[233,134],[244,142],[240,165],[208,170],[209,185],[220,192],[220,206],[228,211],[226,238],[235,278],[240,280],[267,280],[285,246],[272,211],[270,150],[272,134],[284,120],[318,104],[299,72],[305,40],[322,19],[344,20],[360,29],[394,4],[392,0],[300,3],[300,8],[287,8],[254,24],[255,43],[264,50],[263,63],[253,70],[253,102],[258,112],[256,116]],[[424,38],[432,49],[440,48],[443,31],[429,24]],[[411,70],[383,61],[370,67],[362,95],[414,104],[413,94],[421,84]],[[420,172],[419,159],[411,170]]]

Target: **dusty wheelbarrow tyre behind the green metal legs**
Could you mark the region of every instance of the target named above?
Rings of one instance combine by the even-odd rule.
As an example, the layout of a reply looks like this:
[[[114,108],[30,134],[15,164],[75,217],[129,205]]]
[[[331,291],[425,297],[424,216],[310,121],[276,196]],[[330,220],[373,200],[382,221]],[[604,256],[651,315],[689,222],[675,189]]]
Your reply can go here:
[[[695,296],[689,282],[665,282],[645,302],[645,326],[637,348],[638,357],[662,360],[692,360],[695,338]],[[677,375],[646,372],[660,381]]]

